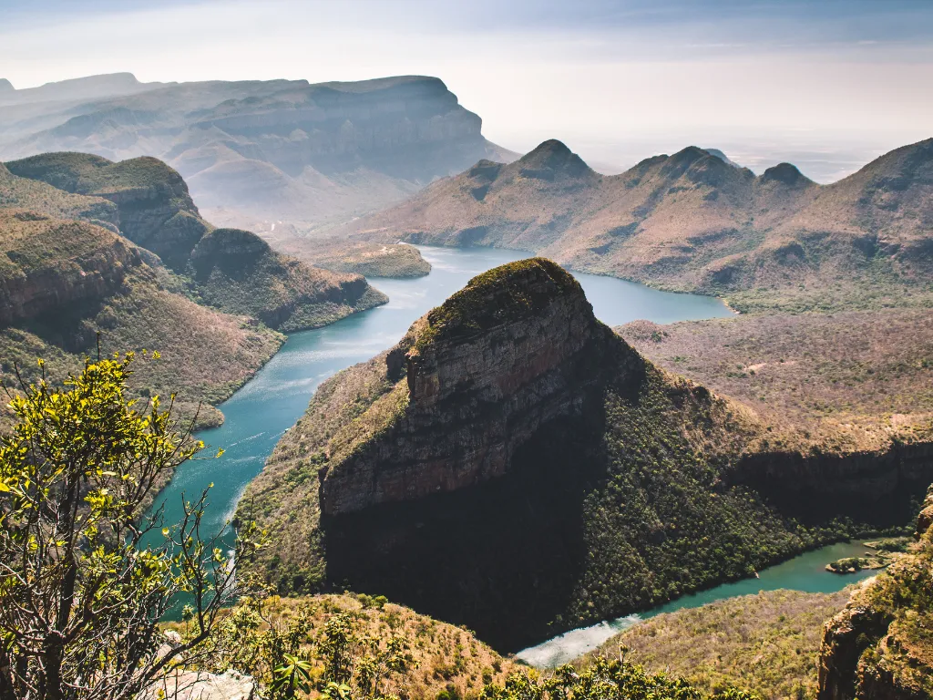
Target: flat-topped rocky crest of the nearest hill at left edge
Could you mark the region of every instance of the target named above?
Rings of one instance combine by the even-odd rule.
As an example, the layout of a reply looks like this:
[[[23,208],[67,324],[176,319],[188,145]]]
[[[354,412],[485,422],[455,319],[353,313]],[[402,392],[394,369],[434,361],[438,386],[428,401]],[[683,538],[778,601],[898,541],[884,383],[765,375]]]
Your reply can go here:
[[[0,211],[0,326],[104,300],[141,263],[117,234],[79,221]]]

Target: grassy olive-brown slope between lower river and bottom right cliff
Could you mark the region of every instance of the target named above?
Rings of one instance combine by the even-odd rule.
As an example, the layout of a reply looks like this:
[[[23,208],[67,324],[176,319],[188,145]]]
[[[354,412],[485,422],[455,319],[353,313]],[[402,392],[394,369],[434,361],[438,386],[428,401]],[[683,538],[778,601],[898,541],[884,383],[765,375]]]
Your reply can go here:
[[[683,676],[704,693],[738,686],[766,700],[814,697],[823,624],[852,595],[768,591],[659,615],[579,659],[586,667],[620,650],[649,671]]]

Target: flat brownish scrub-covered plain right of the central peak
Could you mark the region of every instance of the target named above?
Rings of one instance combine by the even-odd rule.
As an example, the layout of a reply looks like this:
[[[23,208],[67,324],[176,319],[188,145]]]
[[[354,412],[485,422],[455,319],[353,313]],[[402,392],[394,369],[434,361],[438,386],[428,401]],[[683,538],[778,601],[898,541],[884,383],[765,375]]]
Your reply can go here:
[[[826,449],[933,436],[933,312],[739,316],[618,329],[651,361]]]

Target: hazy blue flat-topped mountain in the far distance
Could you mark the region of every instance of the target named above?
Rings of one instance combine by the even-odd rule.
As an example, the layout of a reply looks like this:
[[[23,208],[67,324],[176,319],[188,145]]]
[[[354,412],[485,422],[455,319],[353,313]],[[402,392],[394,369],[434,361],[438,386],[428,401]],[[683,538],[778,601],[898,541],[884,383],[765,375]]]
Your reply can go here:
[[[349,218],[480,158],[516,155],[483,138],[480,117],[435,77],[146,84],[124,74],[35,91],[48,99],[0,95],[6,159],[154,156],[185,177],[209,218],[257,231],[283,218]]]

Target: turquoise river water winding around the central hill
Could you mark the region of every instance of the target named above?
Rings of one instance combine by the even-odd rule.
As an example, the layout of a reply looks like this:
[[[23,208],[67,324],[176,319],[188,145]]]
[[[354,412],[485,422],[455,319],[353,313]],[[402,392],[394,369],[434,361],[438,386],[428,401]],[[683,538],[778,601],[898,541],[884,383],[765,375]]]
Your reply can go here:
[[[275,357],[219,407],[225,416],[224,424],[203,430],[198,437],[209,446],[204,454],[212,454],[216,448],[223,448],[225,453],[219,459],[189,461],[177,470],[172,482],[156,500],[157,506],[164,504],[166,524],[180,519],[183,498],[197,497],[213,483],[202,521],[202,538],[219,534],[229,549],[234,535],[227,523],[246,484],[257,476],[285,430],[304,413],[321,382],[397,343],[413,321],[464,287],[471,277],[497,265],[527,257],[521,251],[492,248],[424,246],[421,251],[432,265],[430,274],[413,280],[371,280],[375,287],[389,296],[387,304],[351,315],[323,329],[290,335]],[[731,315],[721,301],[710,297],[662,292],[612,277],[576,276],[596,316],[610,326],[639,318],[672,323]],[[803,554],[779,567],[763,571],[760,580],[719,586],[703,594],[680,598],[646,614],[702,605],[729,595],[757,593],[761,588],[838,590],[852,579],[828,574],[821,569],[828,561],[852,549],[846,549],[846,545],[836,547],[841,553],[829,548],[831,552]],[[598,646],[636,621],[633,616],[575,630],[522,651],[520,656],[535,665],[560,664]]]

